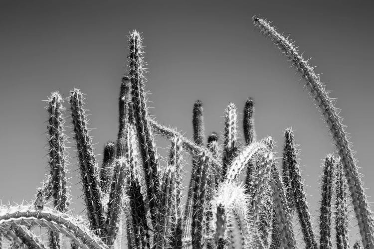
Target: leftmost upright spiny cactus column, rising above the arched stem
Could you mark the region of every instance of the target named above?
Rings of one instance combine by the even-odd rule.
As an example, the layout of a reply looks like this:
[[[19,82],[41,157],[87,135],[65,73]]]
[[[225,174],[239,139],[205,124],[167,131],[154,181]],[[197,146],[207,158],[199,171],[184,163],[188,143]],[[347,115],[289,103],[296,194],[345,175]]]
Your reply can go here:
[[[48,111],[48,143],[49,143],[49,167],[51,176],[51,192],[54,206],[60,212],[66,211],[67,189],[66,189],[66,153],[64,134],[65,120],[62,112],[63,99],[58,92],[53,92],[47,100]]]

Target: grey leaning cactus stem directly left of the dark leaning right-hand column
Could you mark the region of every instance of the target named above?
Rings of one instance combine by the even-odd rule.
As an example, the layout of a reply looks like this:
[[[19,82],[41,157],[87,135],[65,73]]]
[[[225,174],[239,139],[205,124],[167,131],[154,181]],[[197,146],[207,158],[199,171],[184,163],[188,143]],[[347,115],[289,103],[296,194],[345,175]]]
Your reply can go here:
[[[275,164],[272,165],[272,176],[274,179],[271,186],[273,189],[275,222],[281,236],[281,242],[285,249],[296,249],[295,234],[292,230],[292,217],[288,208],[286,194],[284,193],[284,186]]]

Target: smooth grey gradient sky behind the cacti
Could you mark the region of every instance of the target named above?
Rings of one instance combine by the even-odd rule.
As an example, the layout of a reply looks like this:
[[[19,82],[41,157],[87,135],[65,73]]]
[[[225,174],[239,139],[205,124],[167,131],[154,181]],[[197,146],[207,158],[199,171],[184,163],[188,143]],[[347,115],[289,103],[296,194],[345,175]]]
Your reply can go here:
[[[31,200],[47,173],[45,100],[79,87],[87,94],[96,153],[116,138],[117,99],[126,69],[129,31],[143,32],[149,62],[152,115],[192,134],[195,100],[204,104],[206,133],[223,130],[229,102],[242,112],[256,102],[258,138],[271,135],[281,150],[292,126],[312,214],[318,215],[323,159],[334,151],[325,123],[284,55],[258,30],[260,14],[291,34],[310,64],[339,97],[344,124],[374,187],[373,26],[371,1],[0,1],[0,198]],[[65,102],[65,107],[69,107]],[[70,125],[70,113],[67,123]],[[241,114],[239,115],[241,118]],[[240,121],[241,127],[241,121]],[[71,128],[66,133],[71,136]],[[169,146],[159,139],[159,145]],[[71,208],[82,212],[75,143]],[[161,152],[161,150],[159,149]],[[97,157],[100,165],[101,155]],[[189,166],[187,166],[187,170]],[[316,224],[317,225],[317,224]],[[354,235],[356,231],[352,231]],[[352,242],[353,243],[353,242]]]

